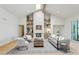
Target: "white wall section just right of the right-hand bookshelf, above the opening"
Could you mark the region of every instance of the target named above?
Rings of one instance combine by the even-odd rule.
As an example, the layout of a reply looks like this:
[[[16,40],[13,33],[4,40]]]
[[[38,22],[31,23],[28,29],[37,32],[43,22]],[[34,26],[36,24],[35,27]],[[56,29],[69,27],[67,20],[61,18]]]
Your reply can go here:
[[[51,33],[52,34],[53,34],[53,25],[64,25],[64,19],[60,19],[58,17],[51,15]]]

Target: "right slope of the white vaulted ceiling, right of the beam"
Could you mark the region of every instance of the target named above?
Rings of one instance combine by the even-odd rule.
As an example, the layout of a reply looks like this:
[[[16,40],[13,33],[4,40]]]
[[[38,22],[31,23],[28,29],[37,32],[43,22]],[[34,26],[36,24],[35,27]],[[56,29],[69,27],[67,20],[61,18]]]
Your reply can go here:
[[[60,18],[79,15],[79,4],[49,4],[46,9],[50,14]]]

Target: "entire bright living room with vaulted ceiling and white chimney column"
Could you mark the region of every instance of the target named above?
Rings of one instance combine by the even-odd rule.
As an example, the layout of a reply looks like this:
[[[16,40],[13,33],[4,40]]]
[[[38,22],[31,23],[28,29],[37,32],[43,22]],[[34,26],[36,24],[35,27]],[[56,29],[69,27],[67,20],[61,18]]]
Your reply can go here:
[[[79,54],[78,8],[0,4],[0,54]]]

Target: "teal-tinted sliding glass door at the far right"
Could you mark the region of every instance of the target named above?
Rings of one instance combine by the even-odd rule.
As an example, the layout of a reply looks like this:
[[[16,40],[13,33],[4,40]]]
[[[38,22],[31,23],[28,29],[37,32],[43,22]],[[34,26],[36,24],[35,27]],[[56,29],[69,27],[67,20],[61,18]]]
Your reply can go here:
[[[78,21],[72,21],[72,32],[71,36],[73,40],[78,41],[79,40],[79,22]]]

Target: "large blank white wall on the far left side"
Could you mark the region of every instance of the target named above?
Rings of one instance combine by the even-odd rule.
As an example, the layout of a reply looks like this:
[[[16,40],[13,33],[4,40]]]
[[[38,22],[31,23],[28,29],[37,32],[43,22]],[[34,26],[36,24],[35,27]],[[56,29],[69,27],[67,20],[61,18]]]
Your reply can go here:
[[[18,36],[18,19],[0,8],[0,44],[4,44]]]

